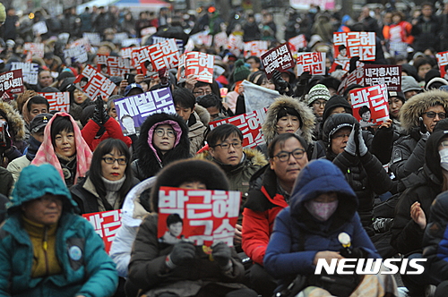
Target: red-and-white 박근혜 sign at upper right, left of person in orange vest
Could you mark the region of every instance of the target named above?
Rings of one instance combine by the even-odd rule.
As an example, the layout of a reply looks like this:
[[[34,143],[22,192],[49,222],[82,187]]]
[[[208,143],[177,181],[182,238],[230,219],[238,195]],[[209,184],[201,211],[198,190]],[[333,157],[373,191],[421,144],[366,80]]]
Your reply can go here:
[[[376,54],[374,32],[334,32],[334,56],[337,60],[358,56],[361,61],[374,61]]]

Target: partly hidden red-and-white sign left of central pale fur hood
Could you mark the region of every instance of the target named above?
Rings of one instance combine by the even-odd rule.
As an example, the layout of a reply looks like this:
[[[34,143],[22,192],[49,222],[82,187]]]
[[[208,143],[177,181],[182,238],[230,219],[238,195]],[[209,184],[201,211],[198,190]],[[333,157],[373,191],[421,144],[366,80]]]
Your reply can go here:
[[[262,124],[266,118],[267,108],[254,110],[253,112],[228,117],[227,119],[210,123],[210,129],[220,126],[223,123],[230,123],[243,133],[243,148],[255,148],[264,143]]]

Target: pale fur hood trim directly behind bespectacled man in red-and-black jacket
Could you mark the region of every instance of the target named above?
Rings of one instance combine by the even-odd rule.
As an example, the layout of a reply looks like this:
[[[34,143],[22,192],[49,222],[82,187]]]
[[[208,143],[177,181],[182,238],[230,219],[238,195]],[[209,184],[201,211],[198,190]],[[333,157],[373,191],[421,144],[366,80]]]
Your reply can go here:
[[[315,121],[313,110],[306,106],[305,103],[299,102],[296,98],[288,96],[280,96],[279,98],[275,98],[275,101],[272,102],[271,106],[269,106],[266,119],[264,120],[262,126],[264,140],[266,140],[266,143],[269,144],[277,135],[277,115],[282,107],[290,107],[297,111],[298,115],[300,115],[301,126],[300,129],[297,130],[296,134],[303,137],[307,143],[311,143]]]

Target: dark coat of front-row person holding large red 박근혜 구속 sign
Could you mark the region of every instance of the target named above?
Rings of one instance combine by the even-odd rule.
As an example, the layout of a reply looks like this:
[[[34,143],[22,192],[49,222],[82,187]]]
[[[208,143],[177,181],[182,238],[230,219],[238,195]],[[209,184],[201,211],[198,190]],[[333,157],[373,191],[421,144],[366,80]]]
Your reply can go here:
[[[147,296],[171,292],[179,296],[194,296],[207,284],[230,288],[244,288],[241,283],[245,269],[237,252],[232,249],[231,273],[224,273],[216,262],[211,262],[202,246],[197,246],[194,260],[187,266],[177,266],[165,273],[165,260],[173,250],[172,244],[159,242],[157,237],[158,215],[146,216],[140,225],[129,263],[128,279]]]

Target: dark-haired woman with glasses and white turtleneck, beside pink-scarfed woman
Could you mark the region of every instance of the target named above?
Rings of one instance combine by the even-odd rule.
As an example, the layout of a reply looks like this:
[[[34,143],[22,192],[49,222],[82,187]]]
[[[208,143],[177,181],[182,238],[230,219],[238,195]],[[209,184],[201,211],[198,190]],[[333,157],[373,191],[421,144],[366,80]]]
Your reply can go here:
[[[72,187],[72,197],[82,214],[122,208],[139,181],[131,170],[131,153],[125,142],[109,138],[99,143],[86,178]]]

